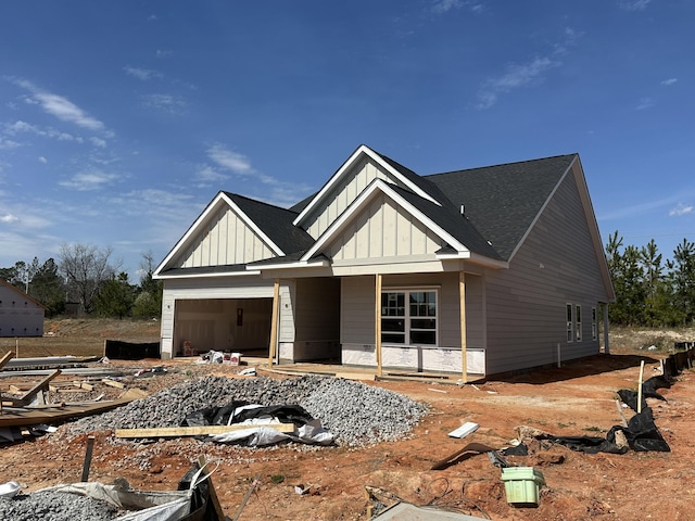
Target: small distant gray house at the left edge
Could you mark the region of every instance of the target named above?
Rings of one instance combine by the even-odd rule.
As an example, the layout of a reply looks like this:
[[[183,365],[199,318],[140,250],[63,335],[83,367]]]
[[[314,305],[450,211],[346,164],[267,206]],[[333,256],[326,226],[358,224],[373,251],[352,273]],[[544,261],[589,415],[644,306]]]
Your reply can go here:
[[[0,336],[42,336],[47,307],[0,279]]]

